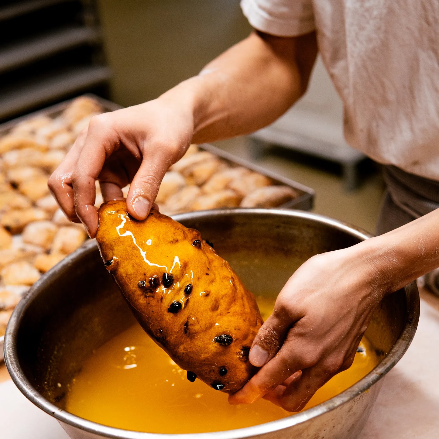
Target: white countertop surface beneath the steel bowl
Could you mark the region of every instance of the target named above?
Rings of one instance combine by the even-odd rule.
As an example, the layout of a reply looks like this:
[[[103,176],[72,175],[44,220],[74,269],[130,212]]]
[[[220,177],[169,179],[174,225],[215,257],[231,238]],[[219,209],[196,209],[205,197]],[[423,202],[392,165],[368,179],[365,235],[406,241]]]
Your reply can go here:
[[[385,377],[359,439],[439,437],[439,298],[421,293],[425,299],[414,340]],[[54,418],[18,391],[4,365],[0,381],[1,438],[68,439]]]

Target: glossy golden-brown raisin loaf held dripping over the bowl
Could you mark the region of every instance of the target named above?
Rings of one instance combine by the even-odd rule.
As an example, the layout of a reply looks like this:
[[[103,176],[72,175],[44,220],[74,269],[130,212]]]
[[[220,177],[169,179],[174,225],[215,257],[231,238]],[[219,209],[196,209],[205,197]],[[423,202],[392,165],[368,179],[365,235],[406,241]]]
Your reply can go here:
[[[227,393],[248,381],[255,372],[248,350],[262,318],[198,230],[155,209],[137,221],[124,201],[111,201],[99,209],[96,239],[137,320],[189,379]]]

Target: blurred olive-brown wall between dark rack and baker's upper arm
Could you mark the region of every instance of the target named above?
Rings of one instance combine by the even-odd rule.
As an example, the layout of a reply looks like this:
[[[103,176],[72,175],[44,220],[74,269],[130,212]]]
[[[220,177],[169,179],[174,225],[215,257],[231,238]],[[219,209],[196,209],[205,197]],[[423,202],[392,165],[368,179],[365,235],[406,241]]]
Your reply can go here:
[[[237,0],[98,0],[112,98],[133,105],[198,74],[251,31]]]

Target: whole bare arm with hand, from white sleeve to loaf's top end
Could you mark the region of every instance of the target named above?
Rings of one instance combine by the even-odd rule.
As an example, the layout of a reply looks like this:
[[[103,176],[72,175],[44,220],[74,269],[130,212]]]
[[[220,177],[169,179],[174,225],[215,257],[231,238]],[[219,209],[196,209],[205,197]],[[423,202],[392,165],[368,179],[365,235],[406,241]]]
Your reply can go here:
[[[305,91],[315,57],[315,34],[280,38],[253,32],[154,101],[97,115],[81,133],[49,187],[72,221],[90,236],[97,229],[94,182],[104,200],[122,198],[144,219],[166,170],[191,142],[257,130]]]

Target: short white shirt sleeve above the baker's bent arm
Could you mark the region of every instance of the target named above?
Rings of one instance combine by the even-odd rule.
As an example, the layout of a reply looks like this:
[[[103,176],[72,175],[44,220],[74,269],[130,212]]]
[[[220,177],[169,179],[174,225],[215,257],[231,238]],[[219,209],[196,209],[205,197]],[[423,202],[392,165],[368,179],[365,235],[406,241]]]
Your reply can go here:
[[[241,0],[248,22],[275,36],[299,36],[315,30],[312,0]]]

